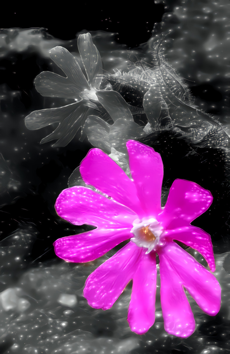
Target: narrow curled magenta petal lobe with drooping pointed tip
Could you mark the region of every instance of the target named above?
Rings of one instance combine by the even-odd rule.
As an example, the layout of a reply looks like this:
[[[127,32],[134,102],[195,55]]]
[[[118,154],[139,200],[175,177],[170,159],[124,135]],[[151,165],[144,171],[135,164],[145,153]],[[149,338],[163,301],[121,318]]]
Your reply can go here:
[[[185,226],[179,229],[166,230],[165,238],[172,241],[183,242],[198,251],[207,261],[212,272],[215,271],[215,259],[212,248],[212,240],[209,234],[196,226]]]

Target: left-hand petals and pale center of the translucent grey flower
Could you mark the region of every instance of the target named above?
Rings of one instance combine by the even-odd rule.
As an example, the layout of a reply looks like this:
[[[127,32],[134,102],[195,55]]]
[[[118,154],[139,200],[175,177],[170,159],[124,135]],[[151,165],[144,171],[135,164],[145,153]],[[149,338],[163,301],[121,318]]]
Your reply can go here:
[[[30,130],[59,122],[58,127],[43,138],[41,144],[58,139],[55,146],[67,145],[76,133],[81,131],[88,114],[92,114],[89,113],[89,109],[96,107],[92,101],[98,101],[96,92],[100,88],[102,63],[90,33],[78,36],[78,50],[87,78],[77,59],[60,46],[51,49],[50,56],[66,76],[46,71],[35,78],[36,90],[42,96],[76,101],[59,108],[36,110],[25,118],[25,125]]]

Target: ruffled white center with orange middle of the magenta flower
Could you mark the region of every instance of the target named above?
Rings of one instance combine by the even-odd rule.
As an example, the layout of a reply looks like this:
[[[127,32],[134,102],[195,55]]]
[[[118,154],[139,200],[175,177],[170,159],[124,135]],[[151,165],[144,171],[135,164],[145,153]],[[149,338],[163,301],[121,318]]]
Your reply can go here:
[[[131,241],[138,247],[147,248],[146,254],[151,251],[157,251],[159,246],[164,245],[164,241],[161,240],[163,231],[161,224],[154,218],[136,219],[130,231],[134,235]]]

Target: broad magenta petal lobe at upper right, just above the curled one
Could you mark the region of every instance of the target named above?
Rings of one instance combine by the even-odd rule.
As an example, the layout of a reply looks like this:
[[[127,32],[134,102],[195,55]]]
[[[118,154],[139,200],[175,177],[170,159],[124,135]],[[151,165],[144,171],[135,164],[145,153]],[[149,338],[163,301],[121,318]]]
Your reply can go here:
[[[199,184],[185,179],[175,179],[158,220],[163,223],[164,229],[188,226],[210,207],[212,199],[209,190]]]

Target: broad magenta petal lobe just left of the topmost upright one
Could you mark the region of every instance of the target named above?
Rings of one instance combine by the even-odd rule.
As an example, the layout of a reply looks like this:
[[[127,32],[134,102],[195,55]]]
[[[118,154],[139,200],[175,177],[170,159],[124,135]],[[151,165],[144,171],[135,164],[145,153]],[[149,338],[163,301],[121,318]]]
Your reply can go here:
[[[82,160],[81,176],[87,184],[111,196],[117,202],[142,214],[135,184],[108,155],[100,149],[92,149]]]

